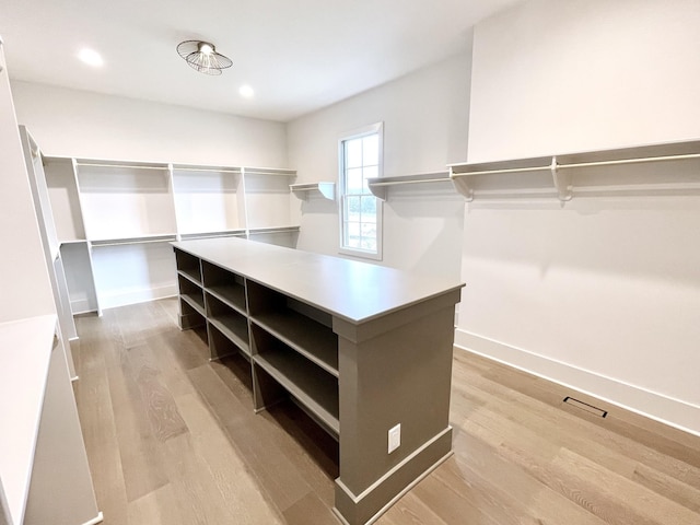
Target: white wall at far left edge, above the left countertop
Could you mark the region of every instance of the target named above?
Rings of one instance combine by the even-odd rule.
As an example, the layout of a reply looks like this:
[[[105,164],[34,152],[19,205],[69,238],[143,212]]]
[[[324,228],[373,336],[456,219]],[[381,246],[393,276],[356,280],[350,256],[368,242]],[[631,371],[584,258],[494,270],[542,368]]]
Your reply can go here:
[[[56,306],[1,45],[0,144],[0,323],[3,323],[55,314]]]

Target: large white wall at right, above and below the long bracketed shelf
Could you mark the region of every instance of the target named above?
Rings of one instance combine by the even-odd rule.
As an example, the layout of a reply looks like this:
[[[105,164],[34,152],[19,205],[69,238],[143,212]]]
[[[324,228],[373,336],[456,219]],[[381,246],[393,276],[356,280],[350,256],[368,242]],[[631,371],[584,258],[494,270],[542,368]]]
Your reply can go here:
[[[697,0],[533,0],[485,21],[469,161],[700,138],[698,27]],[[700,433],[698,224],[698,192],[477,197],[457,343]]]

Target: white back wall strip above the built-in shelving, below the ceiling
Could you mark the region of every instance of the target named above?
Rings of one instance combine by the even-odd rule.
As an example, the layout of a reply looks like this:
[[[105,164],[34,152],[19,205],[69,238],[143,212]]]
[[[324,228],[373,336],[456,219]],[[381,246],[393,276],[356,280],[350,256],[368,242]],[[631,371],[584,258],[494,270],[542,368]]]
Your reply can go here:
[[[288,167],[280,122],[19,81],[12,92],[47,155]]]

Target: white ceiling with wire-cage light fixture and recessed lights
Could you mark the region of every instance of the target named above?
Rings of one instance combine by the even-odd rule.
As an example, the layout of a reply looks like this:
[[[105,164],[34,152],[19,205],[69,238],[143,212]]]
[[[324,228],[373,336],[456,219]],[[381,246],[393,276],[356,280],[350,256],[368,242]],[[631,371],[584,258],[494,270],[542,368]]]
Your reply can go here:
[[[0,0],[0,35],[13,80],[288,121],[468,51],[471,26],[512,3]],[[175,50],[185,39],[213,43],[233,67],[198,73]],[[82,47],[104,66],[80,62]]]

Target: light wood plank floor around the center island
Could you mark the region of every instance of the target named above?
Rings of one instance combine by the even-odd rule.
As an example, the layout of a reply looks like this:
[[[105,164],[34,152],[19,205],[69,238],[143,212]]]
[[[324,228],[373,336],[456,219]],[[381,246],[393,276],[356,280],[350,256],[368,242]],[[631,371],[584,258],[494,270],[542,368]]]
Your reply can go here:
[[[77,319],[75,396],[106,525],[337,524],[337,444],[174,299]],[[603,419],[563,404],[571,395]],[[700,525],[700,439],[456,350],[455,454],[380,525]],[[67,481],[69,482],[69,481]]]

